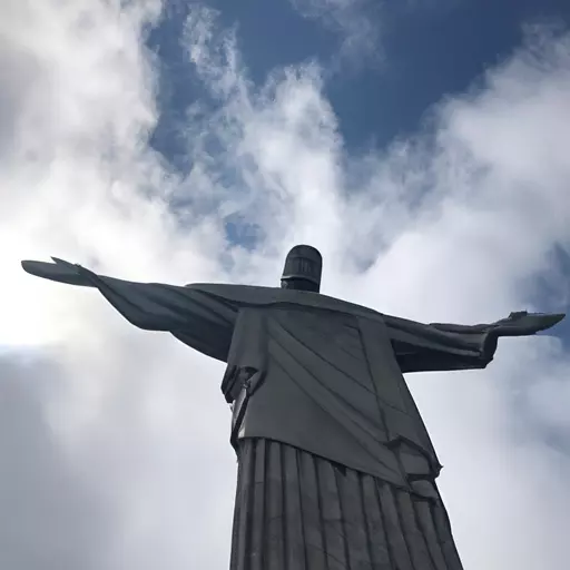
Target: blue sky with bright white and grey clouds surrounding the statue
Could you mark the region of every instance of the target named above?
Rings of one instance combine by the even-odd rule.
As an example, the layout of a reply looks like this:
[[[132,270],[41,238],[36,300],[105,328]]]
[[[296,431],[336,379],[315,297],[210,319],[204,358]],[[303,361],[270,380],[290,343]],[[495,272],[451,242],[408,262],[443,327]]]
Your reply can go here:
[[[20,259],[276,286],[309,243],[386,314],[568,309],[570,7],[394,3],[0,3],[0,568],[227,568],[236,479],[223,364]],[[465,570],[568,566],[569,340],[406,379]]]

